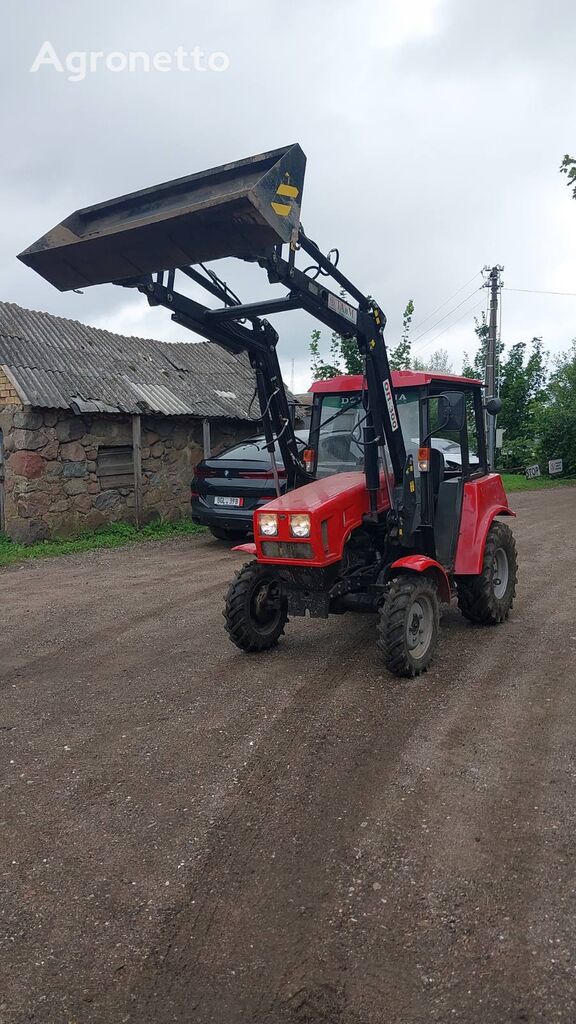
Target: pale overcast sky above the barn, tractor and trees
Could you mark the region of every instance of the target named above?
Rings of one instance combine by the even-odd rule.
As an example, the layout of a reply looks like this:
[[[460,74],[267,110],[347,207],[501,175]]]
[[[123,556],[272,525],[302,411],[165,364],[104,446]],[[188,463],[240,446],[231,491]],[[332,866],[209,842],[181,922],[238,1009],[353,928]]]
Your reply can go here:
[[[294,141],[307,156],[306,231],[325,250],[338,246],[340,267],[377,298],[390,346],[413,299],[414,354],[446,347],[459,370],[475,347],[485,263],[504,264],[510,289],[576,292],[576,202],[558,171],[566,152],[576,155],[574,0],[7,6],[2,299],[124,334],[187,340],[141,296],[113,286],[60,294],[16,253],[79,207]],[[73,82],[50,65],[30,72],[45,42],[63,65],[71,51],[200,47],[224,53],[230,66],[100,68]],[[225,266],[243,298],[270,295],[254,270]],[[286,379],[294,360],[304,390],[315,324],[284,313],[275,325]],[[504,291],[504,341],[533,335],[552,352],[566,349],[576,297]]]

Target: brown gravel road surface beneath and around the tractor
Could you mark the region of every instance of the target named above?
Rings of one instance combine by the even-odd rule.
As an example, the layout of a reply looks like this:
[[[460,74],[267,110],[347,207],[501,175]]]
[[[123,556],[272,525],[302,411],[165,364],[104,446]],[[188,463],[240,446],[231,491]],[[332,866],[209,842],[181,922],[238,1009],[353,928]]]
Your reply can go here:
[[[204,537],[0,573],[2,1024],[576,1020],[576,489],[421,679],[222,629]]]

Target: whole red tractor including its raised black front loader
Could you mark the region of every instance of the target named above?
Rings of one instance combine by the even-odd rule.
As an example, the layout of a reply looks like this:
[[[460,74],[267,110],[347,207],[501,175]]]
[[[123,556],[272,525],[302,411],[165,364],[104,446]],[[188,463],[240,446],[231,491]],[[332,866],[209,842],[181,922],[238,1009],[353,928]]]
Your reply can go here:
[[[434,656],[441,602],[455,594],[462,614],[484,625],[512,606],[516,547],[496,517],[513,513],[485,441],[499,402],[485,402],[476,380],[390,372],[380,306],[300,224],[304,168],[292,145],[132,193],[77,211],[19,258],[61,291],[136,288],[176,323],[248,352],[273,469],[278,444],[288,490],[254,513],[254,544],[241,546],[256,557],[228,594],[234,643],[266,650],[289,615],[369,612],[386,667],[416,676]],[[286,294],[241,302],[204,265],[229,256],[257,262]],[[176,271],[221,304],[177,291]],[[355,338],[364,361],[362,375],[313,385],[303,455],[278,334],[263,318],[296,308]]]

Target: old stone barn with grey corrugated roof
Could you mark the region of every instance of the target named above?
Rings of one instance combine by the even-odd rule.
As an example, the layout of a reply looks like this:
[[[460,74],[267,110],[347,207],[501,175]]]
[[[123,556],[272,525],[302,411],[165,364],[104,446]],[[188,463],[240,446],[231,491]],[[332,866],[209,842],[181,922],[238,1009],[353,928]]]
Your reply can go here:
[[[195,464],[257,431],[247,356],[0,302],[0,530],[188,515]]]

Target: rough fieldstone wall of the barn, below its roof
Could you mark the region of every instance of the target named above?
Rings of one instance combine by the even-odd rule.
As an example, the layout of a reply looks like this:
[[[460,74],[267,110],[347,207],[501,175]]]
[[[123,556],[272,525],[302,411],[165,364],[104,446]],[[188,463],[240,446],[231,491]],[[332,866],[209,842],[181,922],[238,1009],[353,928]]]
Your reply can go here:
[[[143,518],[175,520],[190,511],[193,468],[202,459],[202,422],[192,417],[142,417]],[[254,424],[215,420],[212,451],[254,432]],[[134,488],[98,475],[98,449],[131,445],[122,416],[73,416],[54,410],[0,411],[4,434],[5,531],[32,543],[134,521]]]

